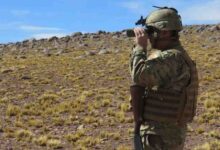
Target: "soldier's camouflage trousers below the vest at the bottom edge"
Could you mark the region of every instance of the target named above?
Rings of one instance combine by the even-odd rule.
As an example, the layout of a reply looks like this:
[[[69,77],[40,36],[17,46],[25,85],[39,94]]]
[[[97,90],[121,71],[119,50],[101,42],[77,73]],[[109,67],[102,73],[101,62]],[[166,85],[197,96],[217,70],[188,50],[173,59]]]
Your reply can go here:
[[[183,150],[186,125],[147,122],[141,126],[144,150]]]

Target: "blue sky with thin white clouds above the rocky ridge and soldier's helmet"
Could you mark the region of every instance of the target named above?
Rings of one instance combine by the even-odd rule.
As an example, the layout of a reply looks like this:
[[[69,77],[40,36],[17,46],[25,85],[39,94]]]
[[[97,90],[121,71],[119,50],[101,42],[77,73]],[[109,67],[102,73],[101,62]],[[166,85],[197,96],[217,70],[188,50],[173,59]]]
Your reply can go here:
[[[132,28],[153,5],[177,8],[183,24],[220,23],[220,0],[2,0],[0,43]]]

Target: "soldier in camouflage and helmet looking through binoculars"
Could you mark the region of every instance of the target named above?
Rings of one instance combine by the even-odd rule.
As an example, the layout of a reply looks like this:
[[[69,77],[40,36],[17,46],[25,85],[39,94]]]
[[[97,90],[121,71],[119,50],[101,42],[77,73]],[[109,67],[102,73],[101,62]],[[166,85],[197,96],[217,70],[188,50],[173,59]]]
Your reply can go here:
[[[196,66],[180,44],[176,9],[158,8],[145,27],[134,29],[130,60],[135,149],[182,150],[186,125],[195,115]]]

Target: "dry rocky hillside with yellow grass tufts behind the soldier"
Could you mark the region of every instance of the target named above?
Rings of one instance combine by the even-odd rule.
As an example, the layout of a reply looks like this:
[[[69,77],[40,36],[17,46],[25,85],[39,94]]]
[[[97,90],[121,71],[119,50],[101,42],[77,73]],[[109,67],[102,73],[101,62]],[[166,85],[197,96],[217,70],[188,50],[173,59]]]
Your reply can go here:
[[[185,26],[199,70],[186,150],[220,149],[220,25]],[[130,150],[129,55],[124,31],[0,44],[0,149]]]

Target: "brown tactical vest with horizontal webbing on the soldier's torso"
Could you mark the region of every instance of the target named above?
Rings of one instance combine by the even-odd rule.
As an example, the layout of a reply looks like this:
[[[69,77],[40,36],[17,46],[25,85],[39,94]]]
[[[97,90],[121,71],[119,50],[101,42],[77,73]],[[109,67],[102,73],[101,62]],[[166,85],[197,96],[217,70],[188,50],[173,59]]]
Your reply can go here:
[[[185,51],[182,56],[190,68],[190,82],[181,92],[148,90],[144,98],[143,119],[158,122],[187,123],[193,120],[198,95],[196,64]]]

